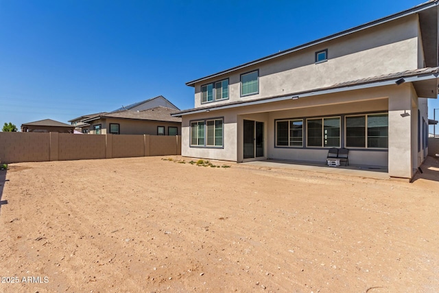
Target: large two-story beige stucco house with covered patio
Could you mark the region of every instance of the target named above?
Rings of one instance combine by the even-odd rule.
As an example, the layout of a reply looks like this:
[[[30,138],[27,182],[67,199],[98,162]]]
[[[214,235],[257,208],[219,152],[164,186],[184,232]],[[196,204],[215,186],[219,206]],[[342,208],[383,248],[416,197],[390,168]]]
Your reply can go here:
[[[427,150],[427,98],[438,95],[438,3],[198,80],[182,117],[182,155],[351,165],[412,178]]]

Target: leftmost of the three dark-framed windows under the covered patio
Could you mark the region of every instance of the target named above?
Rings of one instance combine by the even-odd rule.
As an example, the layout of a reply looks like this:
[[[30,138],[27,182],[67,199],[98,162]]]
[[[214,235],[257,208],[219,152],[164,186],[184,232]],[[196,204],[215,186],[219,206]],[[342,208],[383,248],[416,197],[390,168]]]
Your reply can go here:
[[[276,121],[276,146],[303,146],[303,120]]]

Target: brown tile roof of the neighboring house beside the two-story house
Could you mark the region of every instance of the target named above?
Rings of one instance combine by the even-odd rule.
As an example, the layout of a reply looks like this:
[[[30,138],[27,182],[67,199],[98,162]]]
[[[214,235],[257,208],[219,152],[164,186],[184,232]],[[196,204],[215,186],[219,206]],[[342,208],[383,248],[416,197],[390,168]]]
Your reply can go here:
[[[158,106],[147,110],[133,111],[120,110],[118,112],[106,113],[104,115],[97,115],[84,119],[83,122],[93,121],[97,119],[115,118],[115,119],[136,119],[136,120],[150,120],[150,121],[166,121],[166,122],[181,122],[179,117],[171,117],[176,109]]]

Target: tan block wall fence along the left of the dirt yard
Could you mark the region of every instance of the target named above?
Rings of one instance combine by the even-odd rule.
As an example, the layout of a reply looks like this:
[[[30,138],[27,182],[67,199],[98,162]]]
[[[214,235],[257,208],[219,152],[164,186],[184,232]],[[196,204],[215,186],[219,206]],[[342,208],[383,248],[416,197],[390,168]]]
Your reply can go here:
[[[1,163],[181,154],[181,136],[0,132]]]

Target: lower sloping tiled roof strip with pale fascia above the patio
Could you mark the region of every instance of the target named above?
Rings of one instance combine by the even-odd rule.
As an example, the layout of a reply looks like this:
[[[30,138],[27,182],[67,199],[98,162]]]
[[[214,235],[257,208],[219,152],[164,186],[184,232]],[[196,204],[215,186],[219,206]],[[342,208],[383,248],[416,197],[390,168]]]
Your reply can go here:
[[[312,95],[323,95],[327,93],[337,93],[342,91],[353,91],[355,89],[365,89],[375,86],[386,86],[392,84],[401,84],[403,82],[421,82],[425,80],[433,80],[439,76],[439,67],[423,68],[423,69],[413,69],[398,73],[379,75],[372,78],[363,78],[361,80],[353,80],[350,82],[342,82],[338,84],[333,84],[331,86],[322,87],[320,89],[313,89],[310,91],[302,91],[297,93],[291,93],[288,95],[278,95],[274,97],[264,97],[261,99],[252,99],[248,101],[237,101],[224,103],[214,106],[204,106],[200,108],[192,108],[188,110],[178,111],[172,116],[182,116],[195,113],[202,113],[210,110],[222,110],[226,108],[235,108],[239,106],[250,106],[255,104],[265,104],[270,102],[278,102],[286,99],[298,99],[302,97],[309,97]],[[435,90],[437,91],[437,81],[435,84]],[[416,85],[415,85],[416,89]]]

